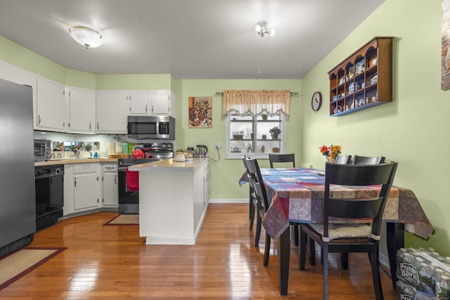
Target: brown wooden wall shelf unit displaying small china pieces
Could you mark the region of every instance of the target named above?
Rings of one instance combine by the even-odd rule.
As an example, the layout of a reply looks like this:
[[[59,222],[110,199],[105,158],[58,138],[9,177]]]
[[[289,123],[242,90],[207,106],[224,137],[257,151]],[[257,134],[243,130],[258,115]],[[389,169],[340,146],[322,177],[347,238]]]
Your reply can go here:
[[[392,102],[392,37],[375,37],[328,72],[330,116]]]

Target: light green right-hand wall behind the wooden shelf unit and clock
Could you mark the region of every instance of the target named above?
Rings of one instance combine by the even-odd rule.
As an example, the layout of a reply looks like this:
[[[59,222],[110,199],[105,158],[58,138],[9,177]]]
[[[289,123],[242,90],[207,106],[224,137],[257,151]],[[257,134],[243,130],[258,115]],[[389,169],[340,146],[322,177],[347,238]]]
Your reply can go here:
[[[426,2],[426,3],[425,3]],[[383,155],[399,162],[394,185],[420,200],[435,235],[406,235],[408,247],[450,255],[450,90],[441,91],[442,1],[387,0],[303,78],[302,162],[323,167],[319,146],[335,143],[349,155]],[[394,37],[393,101],[343,117],[329,117],[328,71],[373,37]],[[325,103],[312,112],[309,99]]]

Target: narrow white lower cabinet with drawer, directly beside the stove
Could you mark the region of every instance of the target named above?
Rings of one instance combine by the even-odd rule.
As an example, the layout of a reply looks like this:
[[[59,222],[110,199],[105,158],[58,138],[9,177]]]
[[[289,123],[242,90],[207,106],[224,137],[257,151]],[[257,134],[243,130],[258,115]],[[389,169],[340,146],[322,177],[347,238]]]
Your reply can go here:
[[[117,188],[117,164],[103,164],[102,183],[102,207],[117,207],[119,204]]]

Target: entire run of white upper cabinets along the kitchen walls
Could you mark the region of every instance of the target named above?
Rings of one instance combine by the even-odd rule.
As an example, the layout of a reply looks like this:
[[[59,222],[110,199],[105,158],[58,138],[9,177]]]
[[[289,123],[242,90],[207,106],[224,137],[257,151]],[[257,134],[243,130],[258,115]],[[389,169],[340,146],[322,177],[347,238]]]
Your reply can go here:
[[[65,86],[0,61],[0,78],[32,86],[34,130],[127,133],[129,115],[175,117],[169,90],[93,91]]]

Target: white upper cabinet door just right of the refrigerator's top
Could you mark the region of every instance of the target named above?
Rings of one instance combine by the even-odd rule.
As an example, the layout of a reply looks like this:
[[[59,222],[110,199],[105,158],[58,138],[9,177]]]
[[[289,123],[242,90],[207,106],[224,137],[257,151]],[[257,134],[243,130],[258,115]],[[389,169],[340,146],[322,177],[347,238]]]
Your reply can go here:
[[[64,131],[63,84],[37,77],[37,101],[34,129]]]

